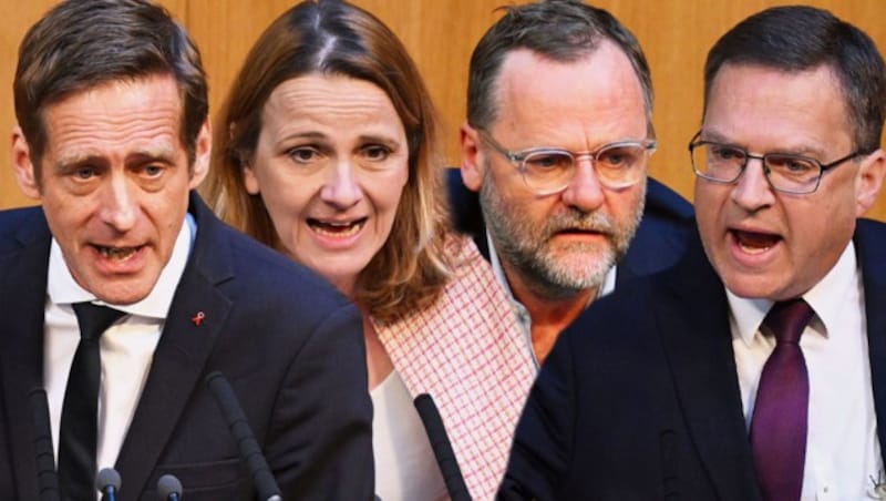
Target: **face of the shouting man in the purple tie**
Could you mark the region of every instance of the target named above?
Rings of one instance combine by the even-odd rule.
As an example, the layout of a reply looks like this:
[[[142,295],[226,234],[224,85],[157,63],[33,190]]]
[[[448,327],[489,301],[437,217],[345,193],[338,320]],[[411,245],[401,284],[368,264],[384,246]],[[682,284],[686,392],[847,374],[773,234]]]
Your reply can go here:
[[[792,153],[825,164],[853,152],[845,98],[828,67],[786,73],[727,64],[711,86],[701,139],[752,155]],[[876,198],[883,151],[826,171],[817,191],[775,192],[760,160],[736,183],[696,182],[704,249],[742,297],[782,300],[818,283],[846,248],[855,218]]]

